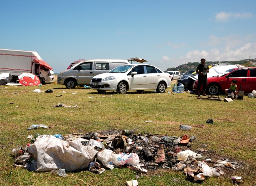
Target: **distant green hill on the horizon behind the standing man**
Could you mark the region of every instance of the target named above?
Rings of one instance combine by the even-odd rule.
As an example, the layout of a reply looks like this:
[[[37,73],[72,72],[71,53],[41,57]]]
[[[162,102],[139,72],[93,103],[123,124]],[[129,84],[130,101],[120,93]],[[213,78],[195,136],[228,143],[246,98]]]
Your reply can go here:
[[[170,70],[177,70],[183,73],[188,70],[195,70],[200,63],[201,62],[188,62],[177,67],[167,68],[164,72],[167,72]],[[219,63],[230,63],[230,64],[243,65],[245,67],[256,67],[256,59],[252,59],[252,60],[244,59],[240,61],[206,61],[205,63],[208,65],[216,65]]]

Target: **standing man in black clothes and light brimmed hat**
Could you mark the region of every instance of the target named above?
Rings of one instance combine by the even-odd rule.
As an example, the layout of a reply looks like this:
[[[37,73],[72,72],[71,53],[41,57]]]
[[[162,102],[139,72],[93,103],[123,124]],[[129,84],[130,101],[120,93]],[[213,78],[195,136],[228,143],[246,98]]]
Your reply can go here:
[[[205,95],[205,90],[207,86],[207,73],[209,72],[209,66],[205,64],[205,58],[201,59],[201,64],[198,65],[195,72],[198,73],[198,84],[196,87],[198,96],[200,96],[201,84],[203,84],[203,96],[207,96]]]

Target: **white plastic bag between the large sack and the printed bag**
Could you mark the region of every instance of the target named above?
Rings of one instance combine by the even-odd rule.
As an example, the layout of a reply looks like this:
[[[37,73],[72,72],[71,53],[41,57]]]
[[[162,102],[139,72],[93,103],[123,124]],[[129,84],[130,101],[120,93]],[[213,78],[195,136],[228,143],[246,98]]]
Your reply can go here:
[[[97,159],[107,168],[113,169],[118,164],[117,156],[112,150],[104,149],[97,154]],[[114,165],[113,165],[114,164]]]

